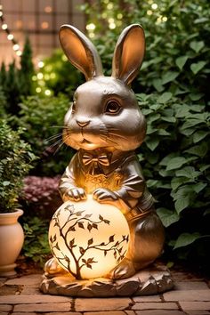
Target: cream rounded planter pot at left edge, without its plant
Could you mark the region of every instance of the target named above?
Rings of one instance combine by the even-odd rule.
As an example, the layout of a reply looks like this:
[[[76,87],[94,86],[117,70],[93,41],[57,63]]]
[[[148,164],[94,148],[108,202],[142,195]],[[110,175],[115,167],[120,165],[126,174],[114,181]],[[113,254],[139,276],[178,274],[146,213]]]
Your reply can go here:
[[[24,233],[18,218],[23,211],[0,214],[0,276],[8,277],[16,274],[16,259],[23,246]]]

